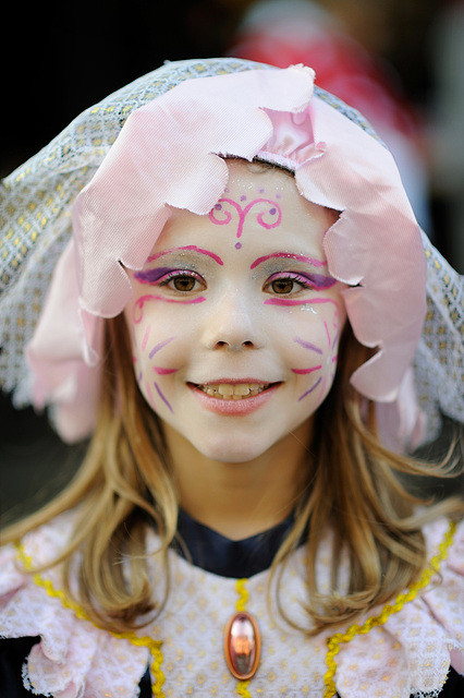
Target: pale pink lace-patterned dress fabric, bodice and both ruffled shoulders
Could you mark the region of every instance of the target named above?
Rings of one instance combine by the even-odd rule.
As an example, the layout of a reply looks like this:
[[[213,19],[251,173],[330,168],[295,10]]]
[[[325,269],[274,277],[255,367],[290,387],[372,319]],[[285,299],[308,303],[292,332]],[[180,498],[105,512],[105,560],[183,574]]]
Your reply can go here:
[[[72,519],[72,515],[65,515],[29,533],[23,543],[24,553],[35,563],[56,555]],[[447,528],[447,521],[438,521],[426,529],[430,557]],[[148,552],[156,551],[156,535],[147,535]],[[56,698],[136,698],[149,663],[147,648],[77,617],[59,598],[47,593],[44,585],[21,574],[15,561],[13,546],[0,552],[0,627],[4,637],[41,638],[24,667],[25,686]],[[327,539],[319,558],[322,586],[329,563]],[[162,641],[164,695],[237,696],[237,682],[228,671],[222,639],[223,628],[235,611],[236,580],[193,567],[173,552],[170,565],[174,583],[168,603],[160,616],[141,630],[141,636]],[[162,574],[155,554],[150,555],[150,566],[157,594]],[[406,603],[386,625],[341,646],[335,684],[342,698],[430,696],[442,688],[450,664],[464,672],[464,525],[457,529],[440,573],[422,598]],[[276,607],[270,613],[268,575],[266,570],[246,582],[246,610],[257,618],[262,641],[259,669],[248,690],[253,698],[320,698],[327,671],[327,634],[305,637],[291,628]],[[42,578],[49,579],[54,590],[61,589],[59,570],[44,573]],[[305,625],[301,606],[306,593],[303,549],[293,555],[282,583],[285,612]]]

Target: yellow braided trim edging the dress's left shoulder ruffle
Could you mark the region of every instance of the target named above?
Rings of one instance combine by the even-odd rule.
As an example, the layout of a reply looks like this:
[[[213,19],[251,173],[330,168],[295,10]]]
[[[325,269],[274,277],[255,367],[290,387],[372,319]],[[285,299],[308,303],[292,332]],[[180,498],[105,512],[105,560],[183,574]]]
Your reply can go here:
[[[20,561],[23,563],[24,569],[26,571],[30,571],[33,569],[33,558],[30,557],[30,555],[27,555],[22,544],[17,544],[16,547],[17,547],[17,556]],[[38,587],[42,587],[49,597],[53,599],[59,599],[61,601],[61,604],[65,609],[73,611],[77,618],[80,618],[81,621],[87,621],[88,623],[91,623],[95,627],[98,627],[95,625],[95,623],[93,623],[93,621],[90,621],[88,615],[83,611],[83,609],[81,609],[81,606],[78,606],[76,603],[71,601],[71,599],[66,597],[64,591],[62,591],[61,589],[56,589],[49,579],[45,579],[38,573],[34,573],[33,581]],[[105,629],[105,628],[100,628],[100,629]],[[166,698],[164,693],[162,690],[162,685],[164,684],[164,674],[161,669],[161,664],[163,660],[162,651],[161,651],[162,641],[154,640],[150,637],[139,637],[135,633],[112,633],[111,630],[107,630],[107,631],[118,639],[129,640],[132,645],[135,645],[136,647],[147,647],[149,649],[151,654],[151,660],[152,660],[150,664],[150,671],[151,671],[151,675],[155,677],[155,683],[151,685],[151,693],[157,698]]]

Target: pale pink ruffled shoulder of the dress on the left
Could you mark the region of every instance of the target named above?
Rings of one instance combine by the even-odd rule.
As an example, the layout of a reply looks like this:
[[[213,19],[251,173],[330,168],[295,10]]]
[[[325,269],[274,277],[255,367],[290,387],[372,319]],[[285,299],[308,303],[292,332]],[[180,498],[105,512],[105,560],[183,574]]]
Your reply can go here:
[[[102,630],[65,601],[60,569],[34,576],[21,566],[57,557],[73,526],[64,515],[0,549],[0,635],[40,637],[23,666],[24,686],[59,698],[136,698],[149,650]]]

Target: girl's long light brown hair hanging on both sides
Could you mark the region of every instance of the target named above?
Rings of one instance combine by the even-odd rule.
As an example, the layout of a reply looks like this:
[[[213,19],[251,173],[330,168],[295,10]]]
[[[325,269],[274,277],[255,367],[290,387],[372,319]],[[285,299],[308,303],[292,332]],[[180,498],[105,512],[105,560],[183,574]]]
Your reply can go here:
[[[417,508],[423,502],[410,493],[401,477],[439,477],[445,469],[395,455],[381,445],[374,404],[350,384],[353,371],[367,358],[368,350],[346,325],[334,385],[316,416],[306,488],[296,503],[293,529],[272,566],[272,576],[280,575],[306,537],[307,612],[314,633],[345,623],[408,587],[426,562],[424,524],[442,514],[464,513],[464,504],[456,498]],[[164,601],[155,601],[145,537],[149,520],[167,562],[176,530],[178,495],[162,425],[135,381],[122,316],[106,323],[100,410],[80,471],[58,497],[11,526],[4,538],[17,540],[69,509],[76,509],[74,533],[54,561],[63,563],[66,592],[72,595],[70,569],[78,551],[75,601],[101,627],[119,633],[134,629],[141,616],[157,613]],[[328,529],[333,534],[332,591],[322,594],[315,569],[321,532]],[[346,593],[341,593],[339,583],[342,551],[351,567]],[[129,576],[123,575],[123,558]],[[164,568],[169,593],[168,564]]]

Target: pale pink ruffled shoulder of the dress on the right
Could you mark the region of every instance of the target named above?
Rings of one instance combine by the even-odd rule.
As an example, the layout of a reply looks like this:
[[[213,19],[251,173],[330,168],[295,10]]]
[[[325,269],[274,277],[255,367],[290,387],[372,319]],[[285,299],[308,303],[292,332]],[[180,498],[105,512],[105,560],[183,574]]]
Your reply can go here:
[[[413,587],[364,626],[335,636],[342,698],[434,697],[450,666],[464,674],[464,522],[448,550],[448,521],[436,521],[424,532],[431,568],[441,562],[439,574],[430,575],[424,590]]]

